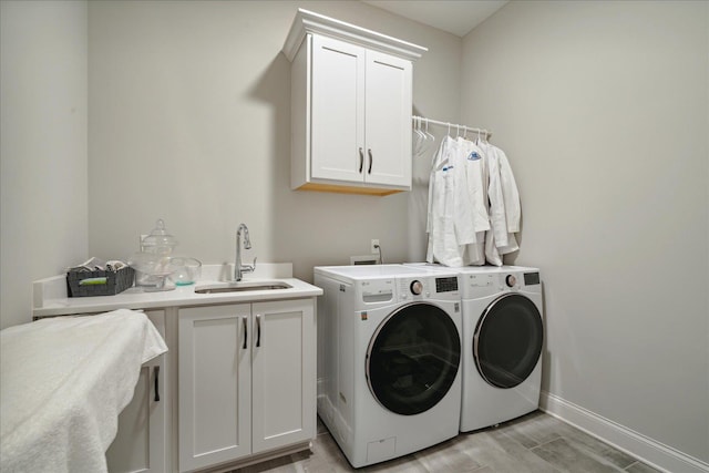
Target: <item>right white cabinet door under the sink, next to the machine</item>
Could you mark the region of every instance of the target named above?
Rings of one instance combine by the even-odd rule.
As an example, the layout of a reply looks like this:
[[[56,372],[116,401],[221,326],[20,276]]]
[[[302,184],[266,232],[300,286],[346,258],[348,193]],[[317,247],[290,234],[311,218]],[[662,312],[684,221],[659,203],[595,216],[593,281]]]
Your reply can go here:
[[[311,299],[253,305],[254,453],[316,434],[315,309]]]

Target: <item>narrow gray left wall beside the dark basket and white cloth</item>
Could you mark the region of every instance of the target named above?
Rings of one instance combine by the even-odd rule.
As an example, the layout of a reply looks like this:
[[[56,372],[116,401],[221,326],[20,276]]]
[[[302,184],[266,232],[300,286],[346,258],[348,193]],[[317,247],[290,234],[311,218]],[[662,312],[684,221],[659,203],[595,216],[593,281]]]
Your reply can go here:
[[[0,328],[85,259],[88,6],[0,2]]]

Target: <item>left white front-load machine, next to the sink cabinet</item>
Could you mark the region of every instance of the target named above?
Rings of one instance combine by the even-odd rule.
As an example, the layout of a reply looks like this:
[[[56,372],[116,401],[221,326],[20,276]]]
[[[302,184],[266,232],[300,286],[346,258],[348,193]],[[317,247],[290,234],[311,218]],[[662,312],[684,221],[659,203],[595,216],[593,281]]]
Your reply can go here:
[[[403,265],[316,267],[318,413],[354,467],[459,433],[458,276]]]

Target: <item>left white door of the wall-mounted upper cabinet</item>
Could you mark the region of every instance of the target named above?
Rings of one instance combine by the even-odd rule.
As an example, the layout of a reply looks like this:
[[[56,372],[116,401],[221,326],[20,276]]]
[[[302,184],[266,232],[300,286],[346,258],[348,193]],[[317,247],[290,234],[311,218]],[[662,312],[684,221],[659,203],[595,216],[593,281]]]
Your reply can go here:
[[[363,179],[364,54],[366,50],[354,44],[312,38],[314,179]]]

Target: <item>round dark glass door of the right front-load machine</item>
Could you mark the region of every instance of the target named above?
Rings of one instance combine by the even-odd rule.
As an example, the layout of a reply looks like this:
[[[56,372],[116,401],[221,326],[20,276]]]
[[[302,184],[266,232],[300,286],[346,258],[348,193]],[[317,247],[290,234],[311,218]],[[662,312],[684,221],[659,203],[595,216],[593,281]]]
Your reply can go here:
[[[477,321],[473,358],[483,379],[497,388],[522,383],[534,371],[544,341],[542,316],[518,294],[495,299]]]

